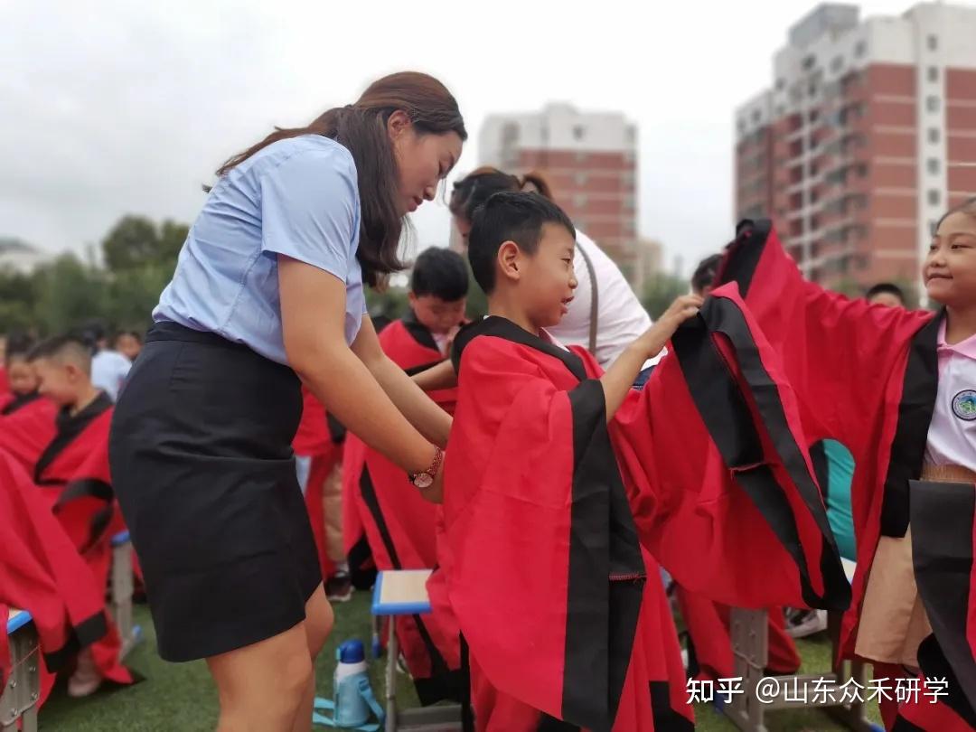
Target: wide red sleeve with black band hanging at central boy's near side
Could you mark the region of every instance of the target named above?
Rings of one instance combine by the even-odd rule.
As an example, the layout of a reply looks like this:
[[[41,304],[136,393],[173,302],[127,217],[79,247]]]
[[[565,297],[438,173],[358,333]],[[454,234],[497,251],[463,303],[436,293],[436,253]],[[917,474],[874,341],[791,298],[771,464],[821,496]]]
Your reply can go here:
[[[535,353],[535,355],[533,355]],[[472,660],[504,694],[588,728],[620,702],[645,567],[599,382],[478,337],[461,360],[439,558]]]

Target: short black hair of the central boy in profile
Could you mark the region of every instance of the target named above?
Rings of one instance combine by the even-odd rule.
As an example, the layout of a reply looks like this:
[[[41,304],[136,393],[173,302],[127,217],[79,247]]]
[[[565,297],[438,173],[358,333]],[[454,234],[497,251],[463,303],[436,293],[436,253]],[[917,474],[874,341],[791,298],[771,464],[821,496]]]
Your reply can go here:
[[[495,260],[502,244],[513,241],[523,252],[534,255],[545,224],[564,226],[576,238],[576,228],[565,212],[538,193],[496,193],[474,212],[468,262],[486,295],[495,289]]]

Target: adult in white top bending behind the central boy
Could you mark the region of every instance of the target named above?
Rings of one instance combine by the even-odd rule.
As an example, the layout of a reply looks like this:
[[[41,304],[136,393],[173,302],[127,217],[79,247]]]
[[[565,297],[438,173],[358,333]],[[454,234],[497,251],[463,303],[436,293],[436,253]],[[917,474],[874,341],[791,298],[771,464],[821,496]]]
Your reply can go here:
[[[450,208],[462,237],[468,240],[471,215],[478,206],[495,193],[514,190],[532,190],[552,198],[549,183],[538,173],[519,178],[486,167],[478,168],[455,183]],[[651,318],[633,294],[617,264],[579,229],[576,230],[573,267],[579,282],[575,297],[559,325],[548,329],[549,334],[563,344],[590,348],[596,360],[605,368],[651,327]],[[592,318],[594,292],[595,323]],[[663,353],[645,363],[645,368],[657,363]]]

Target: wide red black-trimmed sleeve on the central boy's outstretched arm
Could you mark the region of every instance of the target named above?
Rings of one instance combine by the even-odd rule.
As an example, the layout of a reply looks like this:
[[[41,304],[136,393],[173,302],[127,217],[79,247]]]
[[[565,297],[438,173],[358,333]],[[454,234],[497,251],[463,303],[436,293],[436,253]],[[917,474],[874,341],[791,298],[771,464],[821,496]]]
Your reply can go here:
[[[682,326],[613,423],[641,540],[686,590],[845,609],[793,388],[735,286]]]

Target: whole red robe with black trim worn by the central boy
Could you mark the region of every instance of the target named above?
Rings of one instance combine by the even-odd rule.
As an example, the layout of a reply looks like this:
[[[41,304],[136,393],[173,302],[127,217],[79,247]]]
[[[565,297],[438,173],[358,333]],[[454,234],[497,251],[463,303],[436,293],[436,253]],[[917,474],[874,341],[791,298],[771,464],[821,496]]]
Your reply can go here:
[[[846,607],[793,392],[734,292],[675,333],[609,425],[582,348],[499,317],[455,347],[427,587],[468,643],[479,729],[692,728],[651,554],[728,604]]]

